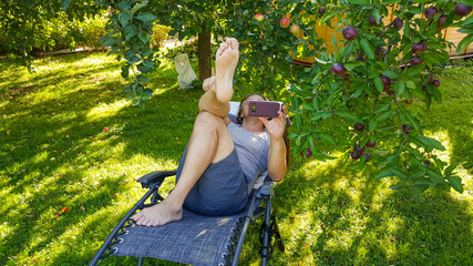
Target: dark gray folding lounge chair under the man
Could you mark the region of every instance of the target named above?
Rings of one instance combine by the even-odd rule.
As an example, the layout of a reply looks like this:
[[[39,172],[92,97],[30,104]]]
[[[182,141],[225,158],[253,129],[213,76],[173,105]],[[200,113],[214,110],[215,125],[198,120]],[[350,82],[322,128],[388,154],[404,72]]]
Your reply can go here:
[[[230,112],[235,112],[235,103],[230,105]],[[158,227],[137,226],[131,217],[138,209],[162,201],[158,188],[166,177],[175,174],[176,171],[157,171],[137,181],[148,191],[116,225],[90,265],[96,265],[110,255],[138,257],[138,265],[145,257],[192,265],[237,265],[248,227],[258,218],[264,218],[259,250],[261,265],[269,259],[273,245],[284,252],[271,209],[275,183],[267,173],[250,184],[250,201],[239,214],[203,216],[184,209],[179,222]],[[145,204],[148,200],[150,204]]]

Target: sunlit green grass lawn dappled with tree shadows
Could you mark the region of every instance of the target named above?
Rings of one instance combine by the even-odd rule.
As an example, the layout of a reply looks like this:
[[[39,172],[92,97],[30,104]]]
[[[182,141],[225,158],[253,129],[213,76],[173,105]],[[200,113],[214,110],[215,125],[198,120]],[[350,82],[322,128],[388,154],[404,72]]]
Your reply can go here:
[[[113,57],[34,65],[29,74],[0,62],[0,265],[85,265],[144,193],[135,180],[177,166],[202,92],[177,90],[177,73],[164,64],[142,110],[124,100]],[[412,108],[448,147],[443,158],[460,165],[465,192],[417,202],[389,190],[394,181],[371,177],[372,168],[292,158],[274,203],[286,253],[276,250],[271,265],[473,265],[473,65],[436,75],[443,102]],[[241,265],[259,264],[257,238],[250,229]]]

